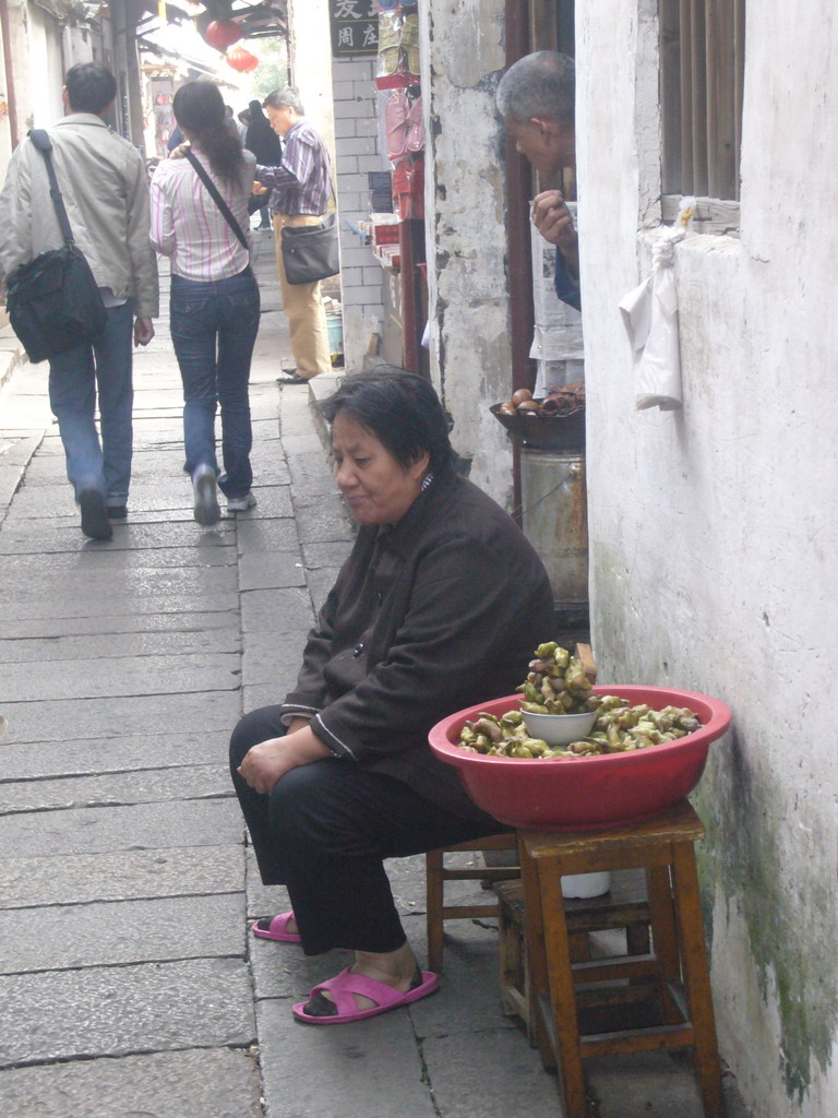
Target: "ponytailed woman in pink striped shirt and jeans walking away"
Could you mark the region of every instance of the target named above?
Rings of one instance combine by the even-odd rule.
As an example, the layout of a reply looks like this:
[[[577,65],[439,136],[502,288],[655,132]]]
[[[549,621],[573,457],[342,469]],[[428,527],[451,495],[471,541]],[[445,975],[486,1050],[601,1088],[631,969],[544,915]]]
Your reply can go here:
[[[174,95],[174,119],[190,150],[168,159],[151,181],[151,240],[171,257],[172,342],[183,381],[185,471],[192,479],[194,518],[221,517],[256,504],[250,492],[250,359],[259,329],[259,288],[250,268],[247,202],[255,159],[225,120],[218,87],[191,82]],[[198,165],[196,165],[198,164]],[[202,181],[200,171],[209,177]],[[228,207],[235,231],[210,192]],[[221,405],[221,455],[216,457],[216,410]]]

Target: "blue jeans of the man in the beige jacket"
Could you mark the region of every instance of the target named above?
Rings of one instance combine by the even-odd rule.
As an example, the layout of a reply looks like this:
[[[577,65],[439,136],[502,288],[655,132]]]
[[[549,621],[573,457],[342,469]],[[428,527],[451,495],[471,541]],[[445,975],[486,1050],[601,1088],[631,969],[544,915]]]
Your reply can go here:
[[[49,362],[49,406],[76,492],[97,490],[108,505],[125,504],[131,483],[134,390],[131,381],[134,312],[131,301],[107,309],[92,343],[76,345]],[[98,387],[102,444],[96,433]]]

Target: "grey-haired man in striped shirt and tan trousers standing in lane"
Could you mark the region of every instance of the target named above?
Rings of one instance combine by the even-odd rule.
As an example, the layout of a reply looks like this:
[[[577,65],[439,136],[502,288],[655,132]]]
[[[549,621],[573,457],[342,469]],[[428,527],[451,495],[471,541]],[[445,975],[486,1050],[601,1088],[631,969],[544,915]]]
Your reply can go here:
[[[291,284],[283,260],[283,228],[320,225],[331,190],[328,153],[323,140],[305,120],[296,89],[276,89],[265,98],[270,126],[285,141],[282,167],[257,163],[256,179],[270,187],[270,212],[276,240],[276,266],[288,320],[295,368],[284,370],[279,383],[304,385],[332,369],[328,328],[320,281]]]

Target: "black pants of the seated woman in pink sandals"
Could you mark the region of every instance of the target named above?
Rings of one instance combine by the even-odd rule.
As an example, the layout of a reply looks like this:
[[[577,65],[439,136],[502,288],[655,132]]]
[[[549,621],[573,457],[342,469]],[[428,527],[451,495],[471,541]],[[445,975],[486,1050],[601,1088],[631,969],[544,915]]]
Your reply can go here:
[[[286,885],[306,955],[333,947],[394,951],[406,942],[383,860],[503,831],[459,818],[390,776],[327,758],[292,769],[269,795],[237,771],[245,754],[285,733],[280,707],[246,714],[230,741],[230,771],[261,880]]]

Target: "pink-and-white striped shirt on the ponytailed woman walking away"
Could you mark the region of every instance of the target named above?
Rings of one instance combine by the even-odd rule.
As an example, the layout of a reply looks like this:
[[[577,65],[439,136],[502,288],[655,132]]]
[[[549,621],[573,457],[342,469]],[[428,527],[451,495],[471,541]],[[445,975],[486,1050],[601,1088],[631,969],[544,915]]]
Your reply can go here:
[[[231,186],[219,179],[201,149],[192,152],[232,210],[245,237],[249,238],[250,218],[247,201],[254,182],[256,160],[244,152],[240,181]],[[244,272],[250,263],[223,214],[198,178],[187,159],[165,159],[151,180],[151,243],[159,253],[172,258],[172,275],[184,280],[211,282]]]

